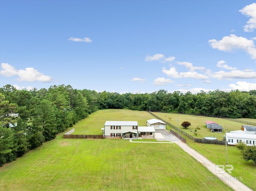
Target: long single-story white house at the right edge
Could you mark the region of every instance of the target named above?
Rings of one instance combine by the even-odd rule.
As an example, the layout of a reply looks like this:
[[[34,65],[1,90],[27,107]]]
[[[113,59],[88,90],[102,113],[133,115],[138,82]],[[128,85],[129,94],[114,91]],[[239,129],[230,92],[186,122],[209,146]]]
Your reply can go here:
[[[226,140],[228,141],[228,145],[236,145],[237,143],[244,142],[248,146],[252,146],[256,145],[256,134],[242,130],[230,131],[226,133]]]

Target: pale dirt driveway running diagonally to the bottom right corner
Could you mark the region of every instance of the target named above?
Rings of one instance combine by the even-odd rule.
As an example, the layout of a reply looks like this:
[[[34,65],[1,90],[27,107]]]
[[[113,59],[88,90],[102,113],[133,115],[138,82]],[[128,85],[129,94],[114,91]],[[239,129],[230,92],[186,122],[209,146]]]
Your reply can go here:
[[[200,153],[198,153],[196,150],[190,148],[187,144],[181,142],[181,141],[174,141],[180,148],[182,148],[185,152],[190,154],[192,157],[194,157],[197,161],[202,163],[210,172],[212,172],[216,177],[206,177],[208,181],[216,181],[220,179],[223,181],[226,185],[234,189],[235,191],[253,191],[246,185],[244,185],[242,182],[239,181],[240,177],[232,177],[228,173],[216,173],[216,171],[219,170],[219,172],[222,172],[223,170],[220,168],[216,169],[216,165],[212,163],[209,159],[202,156]],[[241,177],[242,178],[242,177]]]

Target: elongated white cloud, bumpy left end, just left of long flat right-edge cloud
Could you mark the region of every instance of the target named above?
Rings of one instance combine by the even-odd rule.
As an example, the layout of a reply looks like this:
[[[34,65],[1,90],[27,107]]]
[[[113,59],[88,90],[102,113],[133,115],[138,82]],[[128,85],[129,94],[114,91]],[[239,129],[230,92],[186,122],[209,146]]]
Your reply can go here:
[[[170,68],[170,70],[166,70],[165,67],[162,68],[162,72],[166,75],[173,77],[173,78],[193,78],[193,79],[208,79],[208,76],[197,73],[195,71],[189,72],[180,72],[176,71],[176,68]]]

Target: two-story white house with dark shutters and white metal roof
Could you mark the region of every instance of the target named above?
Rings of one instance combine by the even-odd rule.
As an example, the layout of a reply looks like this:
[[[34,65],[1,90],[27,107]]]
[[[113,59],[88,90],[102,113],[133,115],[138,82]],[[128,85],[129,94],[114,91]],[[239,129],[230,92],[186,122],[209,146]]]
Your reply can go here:
[[[137,121],[106,121],[102,128],[104,138],[137,138]]]

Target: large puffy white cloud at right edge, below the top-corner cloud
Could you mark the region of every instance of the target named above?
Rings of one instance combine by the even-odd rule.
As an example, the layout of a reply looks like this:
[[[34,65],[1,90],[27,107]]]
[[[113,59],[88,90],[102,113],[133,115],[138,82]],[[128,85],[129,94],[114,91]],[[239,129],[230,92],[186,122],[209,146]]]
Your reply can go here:
[[[233,49],[242,49],[251,55],[252,59],[256,59],[256,48],[254,41],[244,37],[237,37],[234,34],[224,36],[220,41],[211,39],[208,41],[212,48],[221,51],[232,51]]]

